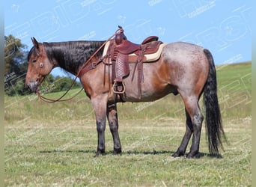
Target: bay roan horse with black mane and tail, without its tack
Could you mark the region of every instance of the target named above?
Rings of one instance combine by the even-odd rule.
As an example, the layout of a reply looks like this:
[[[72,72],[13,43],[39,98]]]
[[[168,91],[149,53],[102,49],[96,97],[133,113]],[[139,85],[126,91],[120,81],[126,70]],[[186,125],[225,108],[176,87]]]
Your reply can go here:
[[[99,49],[105,41],[73,41],[58,43],[38,43],[32,38],[34,46],[28,53],[28,71],[25,85],[36,92],[38,86],[54,67],[61,67],[67,72],[77,75],[85,61]],[[90,66],[103,55],[100,49],[86,64]],[[130,70],[135,64],[129,64]],[[124,79],[125,96],[117,99],[112,90],[112,68],[104,63],[79,76],[86,95],[91,99],[97,123],[97,153],[105,154],[106,119],[114,141],[114,154],[121,154],[121,141],[118,134],[118,111],[116,102],[150,102],[162,98],[168,93],[178,93],[183,99],[186,113],[186,132],[180,147],[172,155],[184,156],[189,139],[192,144],[187,158],[192,158],[199,151],[201,126],[204,120],[198,100],[204,93],[205,122],[209,151],[211,155],[219,155],[222,147],[222,117],[217,97],[216,68],[210,51],[191,43],[168,43],[162,49],[160,58],[143,64],[143,82],[141,97],[138,97],[136,79],[132,73]],[[135,76],[137,73],[135,73]]]

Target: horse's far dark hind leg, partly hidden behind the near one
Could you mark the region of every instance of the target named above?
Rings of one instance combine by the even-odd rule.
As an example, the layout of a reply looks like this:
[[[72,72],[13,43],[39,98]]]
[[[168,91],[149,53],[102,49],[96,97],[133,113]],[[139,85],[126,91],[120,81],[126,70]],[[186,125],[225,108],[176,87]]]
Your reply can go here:
[[[186,111],[186,109],[185,109],[185,111]],[[185,132],[185,135],[183,136],[180,147],[177,149],[177,151],[172,156],[177,157],[177,156],[185,155],[186,147],[189,144],[189,139],[191,138],[192,132],[193,132],[192,121],[191,121],[191,118],[190,118],[188,112],[186,111],[186,132]]]

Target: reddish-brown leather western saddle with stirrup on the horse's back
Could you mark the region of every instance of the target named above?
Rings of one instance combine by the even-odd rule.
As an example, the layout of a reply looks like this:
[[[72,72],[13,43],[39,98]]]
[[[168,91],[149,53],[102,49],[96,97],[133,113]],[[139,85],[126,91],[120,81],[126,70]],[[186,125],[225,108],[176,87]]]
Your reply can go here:
[[[125,93],[124,79],[129,76],[129,63],[135,63],[132,74],[132,80],[135,75],[135,69],[138,71],[138,98],[141,98],[141,82],[143,79],[143,62],[146,61],[145,55],[156,53],[162,44],[158,37],[147,37],[141,44],[135,44],[127,40],[124,35],[124,29],[119,29],[115,34],[114,40],[109,43],[106,55],[112,63],[112,90],[115,94]]]

